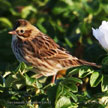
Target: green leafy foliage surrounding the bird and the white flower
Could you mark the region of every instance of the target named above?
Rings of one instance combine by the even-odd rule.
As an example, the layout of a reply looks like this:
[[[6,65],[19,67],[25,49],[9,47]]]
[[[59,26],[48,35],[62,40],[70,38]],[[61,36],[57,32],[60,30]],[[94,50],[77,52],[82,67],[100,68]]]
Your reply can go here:
[[[0,0],[0,108],[106,108],[108,55],[92,36],[108,20],[107,0]],[[73,56],[101,68],[80,66],[52,85],[35,79],[11,50],[8,31],[17,19],[27,19]],[[16,68],[17,67],[17,68]]]

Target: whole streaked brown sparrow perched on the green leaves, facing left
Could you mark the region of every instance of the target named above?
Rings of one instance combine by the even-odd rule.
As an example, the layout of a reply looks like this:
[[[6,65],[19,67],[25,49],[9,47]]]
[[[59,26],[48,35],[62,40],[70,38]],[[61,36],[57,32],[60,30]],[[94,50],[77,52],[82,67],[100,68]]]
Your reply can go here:
[[[11,47],[19,62],[32,66],[36,78],[53,76],[72,67],[89,65],[99,67],[96,63],[87,62],[72,56],[65,48],[58,45],[51,37],[42,33],[25,19],[18,19],[12,31]]]

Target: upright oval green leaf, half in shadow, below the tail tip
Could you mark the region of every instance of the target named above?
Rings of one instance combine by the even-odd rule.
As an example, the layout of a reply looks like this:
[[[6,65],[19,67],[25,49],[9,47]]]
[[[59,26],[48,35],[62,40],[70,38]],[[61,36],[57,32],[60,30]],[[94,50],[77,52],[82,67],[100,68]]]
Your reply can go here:
[[[102,75],[99,72],[93,72],[90,77],[91,87],[96,87],[102,81]]]

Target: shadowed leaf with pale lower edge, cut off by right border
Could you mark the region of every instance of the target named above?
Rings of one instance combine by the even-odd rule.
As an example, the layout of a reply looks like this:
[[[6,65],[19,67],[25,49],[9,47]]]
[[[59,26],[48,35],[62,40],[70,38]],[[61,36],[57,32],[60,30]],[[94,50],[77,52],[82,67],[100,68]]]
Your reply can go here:
[[[101,89],[103,92],[108,91],[108,75],[103,75]]]

